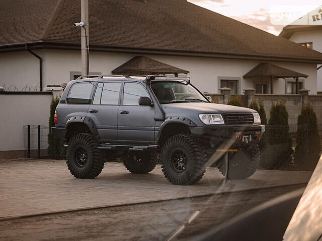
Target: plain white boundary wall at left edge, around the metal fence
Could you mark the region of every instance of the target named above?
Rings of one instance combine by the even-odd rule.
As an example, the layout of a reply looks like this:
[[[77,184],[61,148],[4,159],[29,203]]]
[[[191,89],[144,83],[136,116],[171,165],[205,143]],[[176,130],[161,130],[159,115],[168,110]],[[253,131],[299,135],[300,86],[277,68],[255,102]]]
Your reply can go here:
[[[24,125],[48,125],[50,94],[0,94],[0,152],[24,150]]]

